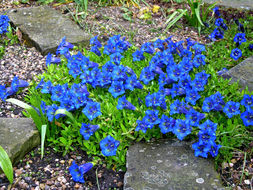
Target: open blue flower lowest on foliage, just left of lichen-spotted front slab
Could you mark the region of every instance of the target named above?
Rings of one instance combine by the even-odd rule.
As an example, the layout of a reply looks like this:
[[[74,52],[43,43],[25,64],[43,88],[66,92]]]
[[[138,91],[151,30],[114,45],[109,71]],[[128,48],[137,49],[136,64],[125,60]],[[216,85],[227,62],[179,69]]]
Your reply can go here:
[[[120,142],[112,136],[107,136],[100,141],[100,148],[104,156],[115,156]]]

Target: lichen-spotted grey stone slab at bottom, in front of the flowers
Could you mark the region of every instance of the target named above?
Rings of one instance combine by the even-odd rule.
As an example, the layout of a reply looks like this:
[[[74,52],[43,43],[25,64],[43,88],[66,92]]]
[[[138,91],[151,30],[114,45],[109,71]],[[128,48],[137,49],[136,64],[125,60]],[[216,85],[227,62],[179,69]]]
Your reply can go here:
[[[224,189],[211,159],[194,156],[191,143],[137,143],[127,153],[125,190]]]

